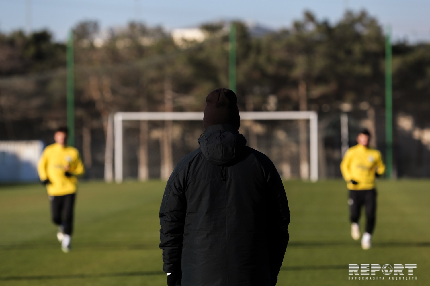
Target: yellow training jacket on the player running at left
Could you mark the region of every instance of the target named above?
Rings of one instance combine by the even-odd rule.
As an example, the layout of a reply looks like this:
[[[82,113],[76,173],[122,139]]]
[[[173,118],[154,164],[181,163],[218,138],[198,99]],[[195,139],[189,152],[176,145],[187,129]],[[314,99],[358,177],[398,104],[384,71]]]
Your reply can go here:
[[[69,166],[72,177],[66,177],[65,166]],[[78,180],[75,176],[82,175],[85,169],[76,148],[54,143],[43,150],[37,172],[41,181],[49,179],[51,182],[46,185],[49,196],[64,196],[76,192]]]

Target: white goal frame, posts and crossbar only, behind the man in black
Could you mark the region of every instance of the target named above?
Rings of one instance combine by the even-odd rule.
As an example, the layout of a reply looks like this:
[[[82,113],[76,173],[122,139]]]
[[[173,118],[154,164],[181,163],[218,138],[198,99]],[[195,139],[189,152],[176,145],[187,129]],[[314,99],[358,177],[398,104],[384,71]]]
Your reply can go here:
[[[203,121],[203,112],[116,112],[112,150],[116,183],[123,181],[123,121],[127,120]],[[315,111],[241,111],[240,120],[309,120],[309,178],[313,182],[318,180],[318,114]]]

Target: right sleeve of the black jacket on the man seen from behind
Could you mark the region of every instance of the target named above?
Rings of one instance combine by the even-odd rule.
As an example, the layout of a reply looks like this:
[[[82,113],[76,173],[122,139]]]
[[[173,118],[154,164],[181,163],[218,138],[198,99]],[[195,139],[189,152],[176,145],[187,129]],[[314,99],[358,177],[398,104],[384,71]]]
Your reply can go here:
[[[272,240],[269,246],[270,274],[272,285],[276,284],[285,251],[289,241],[288,225],[290,223],[290,210],[284,185],[273,163],[267,176],[269,188],[269,207],[273,211]]]

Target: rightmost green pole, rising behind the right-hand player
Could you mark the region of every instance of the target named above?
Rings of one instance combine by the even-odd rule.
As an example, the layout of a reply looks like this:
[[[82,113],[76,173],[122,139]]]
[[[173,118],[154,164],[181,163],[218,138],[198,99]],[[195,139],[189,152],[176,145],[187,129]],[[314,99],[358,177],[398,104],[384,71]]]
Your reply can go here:
[[[391,27],[385,35],[385,161],[387,178],[393,178],[393,72]]]

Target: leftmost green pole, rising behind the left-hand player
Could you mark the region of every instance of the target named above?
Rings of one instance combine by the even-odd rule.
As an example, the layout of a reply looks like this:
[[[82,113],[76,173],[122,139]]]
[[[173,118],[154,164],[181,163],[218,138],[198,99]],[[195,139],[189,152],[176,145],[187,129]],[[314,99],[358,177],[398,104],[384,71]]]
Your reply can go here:
[[[67,40],[67,127],[69,135],[67,144],[75,145],[75,96],[74,96],[74,41],[73,30],[69,32]]]

